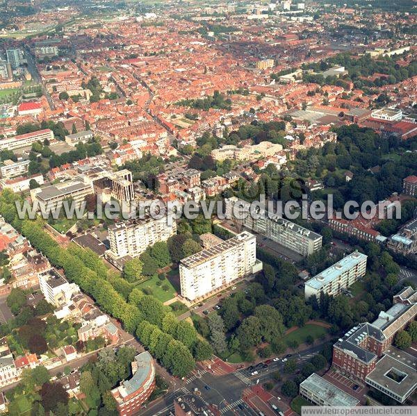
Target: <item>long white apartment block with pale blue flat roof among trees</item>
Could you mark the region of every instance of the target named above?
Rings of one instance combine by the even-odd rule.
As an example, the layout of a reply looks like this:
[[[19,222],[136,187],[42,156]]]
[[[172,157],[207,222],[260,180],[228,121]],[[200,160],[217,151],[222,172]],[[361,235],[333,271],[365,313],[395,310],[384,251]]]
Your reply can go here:
[[[341,294],[343,289],[349,288],[366,273],[366,260],[368,256],[354,251],[338,263],[323,270],[318,275],[306,281],[304,286],[304,295],[306,299],[320,292],[327,293],[331,296]]]

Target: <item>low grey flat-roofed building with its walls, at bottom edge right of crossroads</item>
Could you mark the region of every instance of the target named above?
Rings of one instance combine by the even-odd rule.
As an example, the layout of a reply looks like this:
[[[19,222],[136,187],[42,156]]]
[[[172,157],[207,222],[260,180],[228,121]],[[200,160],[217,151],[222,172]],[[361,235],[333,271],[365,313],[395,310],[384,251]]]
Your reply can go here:
[[[300,394],[317,406],[358,406],[359,399],[313,373],[300,384]]]

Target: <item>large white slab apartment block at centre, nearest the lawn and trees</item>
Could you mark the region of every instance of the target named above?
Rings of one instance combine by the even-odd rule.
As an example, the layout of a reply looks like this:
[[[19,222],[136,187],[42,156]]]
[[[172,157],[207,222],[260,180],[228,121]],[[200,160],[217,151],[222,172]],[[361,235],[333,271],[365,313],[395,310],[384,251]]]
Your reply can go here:
[[[256,260],[256,238],[245,231],[181,260],[181,296],[190,301],[204,299],[261,269],[262,263]]]

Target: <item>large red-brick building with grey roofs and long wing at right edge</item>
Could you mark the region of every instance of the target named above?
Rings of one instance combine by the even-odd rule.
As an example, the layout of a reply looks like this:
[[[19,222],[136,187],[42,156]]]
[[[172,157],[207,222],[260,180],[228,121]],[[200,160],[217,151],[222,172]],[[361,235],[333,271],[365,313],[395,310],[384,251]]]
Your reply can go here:
[[[417,314],[417,291],[403,289],[393,298],[393,306],[372,324],[365,322],[345,333],[333,346],[332,365],[345,374],[365,381],[375,369],[378,359],[398,331],[404,329]]]

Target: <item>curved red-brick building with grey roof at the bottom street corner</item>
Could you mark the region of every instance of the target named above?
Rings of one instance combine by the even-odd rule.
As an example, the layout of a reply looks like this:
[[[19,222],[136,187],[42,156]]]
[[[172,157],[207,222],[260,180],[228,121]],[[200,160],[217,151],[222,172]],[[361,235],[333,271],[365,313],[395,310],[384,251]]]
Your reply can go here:
[[[155,366],[148,351],[135,357],[132,363],[132,373],[130,380],[122,381],[119,387],[111,390],[120,416],[137,415],[142,404],[154,391]]]

